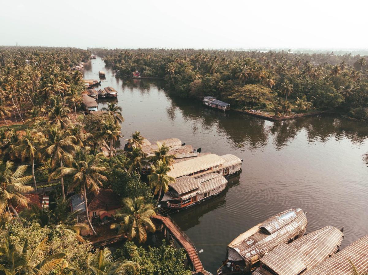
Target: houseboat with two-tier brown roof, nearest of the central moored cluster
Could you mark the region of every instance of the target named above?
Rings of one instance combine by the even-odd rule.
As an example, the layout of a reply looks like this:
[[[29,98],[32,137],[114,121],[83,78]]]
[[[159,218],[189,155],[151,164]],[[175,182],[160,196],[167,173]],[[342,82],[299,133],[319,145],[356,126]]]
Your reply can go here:
[[[183,176],[169,184],[162,202],[171,209],[187,209],[193,205],[219,195],[226,187],[227,180],[223,176],[211,173],[199,178]]]

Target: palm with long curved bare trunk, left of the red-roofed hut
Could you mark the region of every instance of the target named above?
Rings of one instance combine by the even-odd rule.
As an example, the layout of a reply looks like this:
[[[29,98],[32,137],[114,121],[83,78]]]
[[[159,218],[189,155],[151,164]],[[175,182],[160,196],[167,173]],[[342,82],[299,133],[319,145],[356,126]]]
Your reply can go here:
[[[107,178],[100,174],[101,172],[105,171],[106,168],[103,166],[98,166],[103,153],[98,153],[88,161],[87,158],[89,153],[90,148],[88,146],[84,148],[77,146],[74,156],[70,155],[70,167],[60,167],[54,171],[49,178],[57,178],[59,177],[59,174],[61,176],[71,176],[72,182],[69,185],[68,191],[72,192],[79,190],[79,192],[84,196],[87,221],[92,229],[93,234],[97,235],[89,218],[87,190],[94,194],[98,194],[99,188],[102,185],[101,181],[106,181]]]

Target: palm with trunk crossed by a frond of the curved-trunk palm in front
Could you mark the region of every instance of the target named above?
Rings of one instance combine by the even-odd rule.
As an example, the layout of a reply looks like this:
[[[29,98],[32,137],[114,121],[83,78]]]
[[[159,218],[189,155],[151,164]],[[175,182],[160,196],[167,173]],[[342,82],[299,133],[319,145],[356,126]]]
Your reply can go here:
[[[63,167],[63,156],[74,150],[74,142],[77,141],[77,138],[70,135],[68,136],[57,126],[51,126],[48,133],[47,138],[44,141],[45,146],[42,148],[43,158],[46,156],[51,157],[51,168],[55,169],[56,167]],[[64,191],[64,178],[60,176],[61,181],[61,192],[63,193],[63,199],[65,199],[65,191]]]

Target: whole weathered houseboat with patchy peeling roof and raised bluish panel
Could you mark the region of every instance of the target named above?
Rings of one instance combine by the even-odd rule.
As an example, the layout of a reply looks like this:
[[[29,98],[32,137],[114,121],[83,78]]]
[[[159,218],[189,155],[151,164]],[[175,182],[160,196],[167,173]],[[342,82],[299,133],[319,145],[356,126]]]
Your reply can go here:
[[[240,234],[228,246],[226,261],[217,270],[221,274],[247,274],[276,246],[304,235],[307,217],[301,209],[289,209]]]

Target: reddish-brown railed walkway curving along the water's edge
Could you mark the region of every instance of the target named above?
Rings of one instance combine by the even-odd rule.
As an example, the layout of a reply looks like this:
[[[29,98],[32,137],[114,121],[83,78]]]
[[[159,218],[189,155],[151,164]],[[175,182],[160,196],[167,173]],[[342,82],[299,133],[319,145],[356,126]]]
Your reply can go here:
[[[187,252],[194,268],[194,272],[196,274],[210,274],[208,271],[205,271],[201,260],[198,257],[198,251],[194,246],[194,243],[191,239],[180,229],[180,227],[173,221],[170,217],[163,217],[160,215],[152,216],[152,218],[156,220],[160,220],[167,230],[170,231],[171,235],[180,243],[180,245]]]

